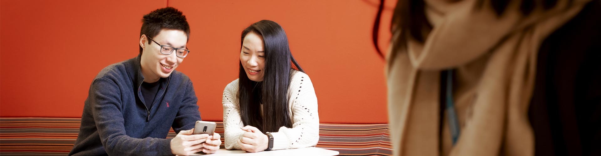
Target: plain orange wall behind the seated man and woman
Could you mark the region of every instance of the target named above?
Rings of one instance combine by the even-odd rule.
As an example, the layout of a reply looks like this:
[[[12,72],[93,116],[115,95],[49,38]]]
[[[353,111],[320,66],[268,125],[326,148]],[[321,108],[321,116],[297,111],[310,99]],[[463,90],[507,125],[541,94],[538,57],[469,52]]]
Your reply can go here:
[[[175,7],[191,25],[191,77],[204,120],[221,121],[221,95],[237,78],[240,32],[261,19],[285,29],[311,76],[320,122],[386,123],[384,62],[371,44],[375,0],[1,1],[0,116],[81,117],[94,76],[138,55],[141,18]],[[386,48],[386,4],[380,47]]]

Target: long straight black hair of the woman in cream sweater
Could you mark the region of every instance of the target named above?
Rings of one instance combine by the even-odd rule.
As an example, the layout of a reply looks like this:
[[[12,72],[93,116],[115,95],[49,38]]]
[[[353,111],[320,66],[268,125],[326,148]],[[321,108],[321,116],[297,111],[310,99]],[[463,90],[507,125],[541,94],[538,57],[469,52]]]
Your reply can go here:
[[[265,68],[262,82],[255,82],[246,76],[245,67],[240,62],[239,92],[240,117],[244,125],[257,127],[261,132],[277,132],[279,127],[292,128],[288,114],[288,85],[291,63],[299,71],[301,66],[294,60],[288,47],[284,29],[271,20],[261,20],[242,31],[240,49],[249,32],[263,36]],[[261,117],[260,105],[263,104]]]

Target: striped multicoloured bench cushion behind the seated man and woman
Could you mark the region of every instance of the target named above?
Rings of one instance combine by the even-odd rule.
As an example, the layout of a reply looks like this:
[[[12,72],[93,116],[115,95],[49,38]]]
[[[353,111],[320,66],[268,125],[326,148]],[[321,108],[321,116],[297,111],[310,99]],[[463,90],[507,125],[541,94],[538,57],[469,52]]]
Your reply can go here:
[[[77,139],[80,121],[0,118],[0,155],[66,155]],[[215,131],[223,136],[223,122],[217,122]],[[167,137],[175,137],[175,132],[169,131]],[[338,151],[340,155],[392,155],[388,124],[322,123],[317,147]]]

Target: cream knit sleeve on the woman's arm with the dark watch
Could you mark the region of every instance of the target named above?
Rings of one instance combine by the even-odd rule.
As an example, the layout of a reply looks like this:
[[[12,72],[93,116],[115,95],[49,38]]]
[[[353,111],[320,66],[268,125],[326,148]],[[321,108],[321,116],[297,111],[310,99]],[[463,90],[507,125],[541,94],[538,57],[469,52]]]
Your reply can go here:
[[[297,71],[288,87],[288,106],[292,128],[280,127],[273,135],[273,150],[305,148],[319,141],[317,96],[307,74]]]

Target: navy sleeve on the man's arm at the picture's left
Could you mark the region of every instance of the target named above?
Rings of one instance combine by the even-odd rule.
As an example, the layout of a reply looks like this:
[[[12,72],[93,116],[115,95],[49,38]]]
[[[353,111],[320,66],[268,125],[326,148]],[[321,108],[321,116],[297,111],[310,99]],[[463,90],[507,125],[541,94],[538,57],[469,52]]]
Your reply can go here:
[[[90,87],[90,100],[94,122],[102,146],[108,155],[172,155],[171,139],[127,136],[121,114],[123,103],[119,87],[106,78],[96,79]]]

